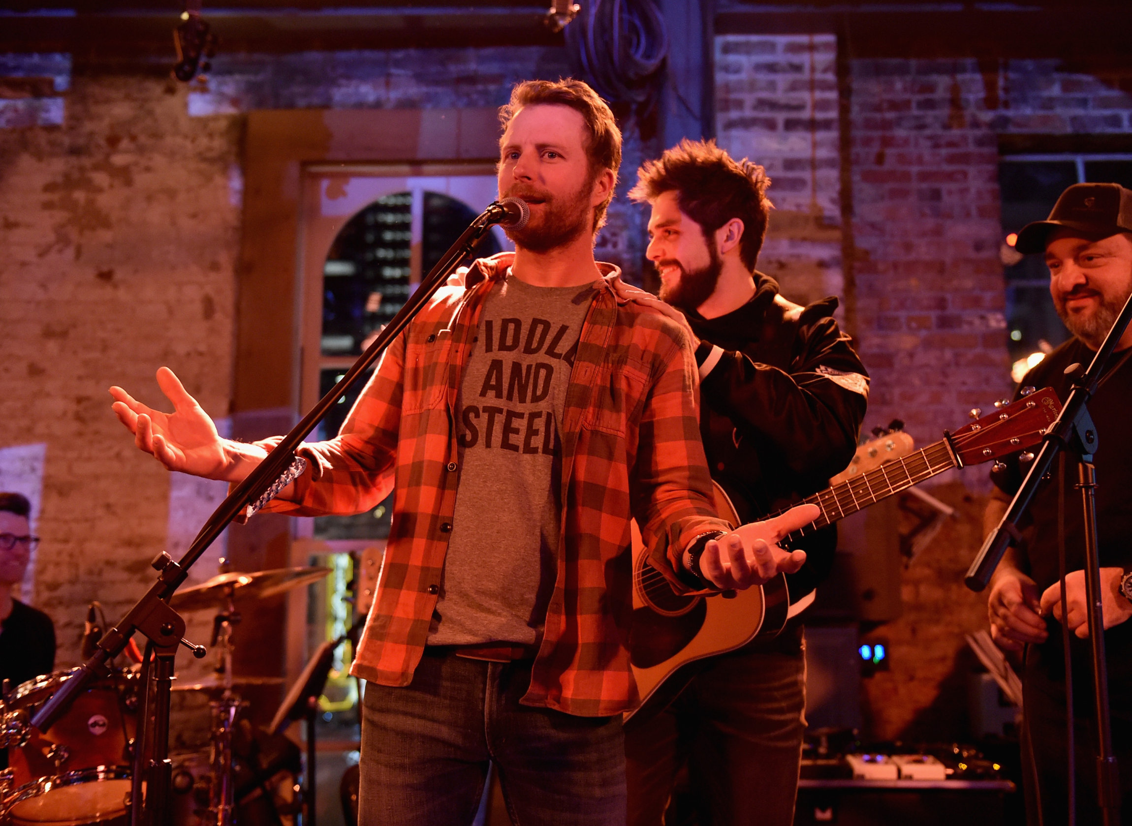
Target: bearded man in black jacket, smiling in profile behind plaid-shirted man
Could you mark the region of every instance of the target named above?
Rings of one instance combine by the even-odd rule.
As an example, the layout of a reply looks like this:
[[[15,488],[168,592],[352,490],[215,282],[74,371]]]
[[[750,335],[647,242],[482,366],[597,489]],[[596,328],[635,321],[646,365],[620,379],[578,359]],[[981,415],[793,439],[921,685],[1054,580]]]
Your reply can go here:
[[[821,490],[852,458],[868,377],[833,319],[837,299],[799,307],[755,270],[771,208],[763,169],[685,140],[638,178],[629,195],[652,206],[660,296],[687,317],[697,345],[712,476],[745,518]],[[831,527],[800,544],[807,559],[787,577],[792,619],[778,637],[705,661],[668,708],[631,721],[629,826],[664,821],[685,764],[702,826],[794,821],[806,679],[798,613],[835,543]]]

